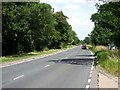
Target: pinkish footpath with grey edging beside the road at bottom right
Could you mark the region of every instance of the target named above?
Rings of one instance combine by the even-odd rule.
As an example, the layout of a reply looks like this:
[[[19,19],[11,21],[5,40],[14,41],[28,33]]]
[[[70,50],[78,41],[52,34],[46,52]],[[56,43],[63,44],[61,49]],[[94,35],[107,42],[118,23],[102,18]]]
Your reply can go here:
[[[98,88],[99,90],[120,90],[118,86],[118,77],[106,73],[98,66],[94,67],[90,88],[95,90],[98,90]]]

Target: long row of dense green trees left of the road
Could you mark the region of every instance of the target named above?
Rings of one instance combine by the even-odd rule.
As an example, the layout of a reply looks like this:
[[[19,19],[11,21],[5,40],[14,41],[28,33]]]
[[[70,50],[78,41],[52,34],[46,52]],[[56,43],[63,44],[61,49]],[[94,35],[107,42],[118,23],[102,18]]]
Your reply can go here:
[[[79,39],[62,11],[50,4],[2,4],[2,54],[12,55],[77,45]]]

